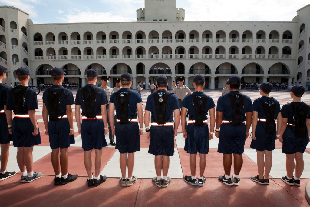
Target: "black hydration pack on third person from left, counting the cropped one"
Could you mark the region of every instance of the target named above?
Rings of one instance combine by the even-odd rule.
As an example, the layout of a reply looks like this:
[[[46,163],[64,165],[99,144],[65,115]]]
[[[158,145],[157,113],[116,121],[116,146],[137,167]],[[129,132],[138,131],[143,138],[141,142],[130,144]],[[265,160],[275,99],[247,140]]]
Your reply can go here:
[[[47,89],[47,111],[48,116],[50,117],[50,120],[52,121],[58,121],[58,110],[59,110],[59,103],[60,103],[60,97],[62,92],[65,88],[61,88],[60,91],[54,90],[52,91],[50,88]]]

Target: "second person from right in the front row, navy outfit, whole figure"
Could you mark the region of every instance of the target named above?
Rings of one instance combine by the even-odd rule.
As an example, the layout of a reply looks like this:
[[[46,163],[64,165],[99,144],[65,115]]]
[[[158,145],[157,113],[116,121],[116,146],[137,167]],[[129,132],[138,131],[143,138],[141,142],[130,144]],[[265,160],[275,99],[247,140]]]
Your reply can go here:
[[[253,102],[252,142],[250,145],[257,152],[258,175],[250,177],[250,179],[259,184],[269,185],[272,151],[276,148],[275,141],[279,137],[282,123],[281,107],[275,98],[269,97],[272,90],[271,83],[258,84],[258,87],[261,97]],[[277,119],[277,126],[275,119]]]

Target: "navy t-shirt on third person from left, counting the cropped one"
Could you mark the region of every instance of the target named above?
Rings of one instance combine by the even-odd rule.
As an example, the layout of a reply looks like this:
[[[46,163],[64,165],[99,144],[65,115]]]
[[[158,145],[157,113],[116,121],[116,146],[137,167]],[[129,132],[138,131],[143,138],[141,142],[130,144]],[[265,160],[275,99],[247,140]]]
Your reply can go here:
[[[47,101],[47,96],[49,91],[60,91],[61,89],[63,89],[64,87],[60,86],[60,85],[52,85],[49,89],[45,90],[43,93],[43,103],[45,104],[47,110],[48,110],[48,101]],[[74,98],[73,98],[73,94],[72,92],[65,88],[64,91],[62,92],[61,96],[60,96],[60,102],[58,105],[58,115],[62,116],[66,114],[66,107],[69,105],[74,104]]]

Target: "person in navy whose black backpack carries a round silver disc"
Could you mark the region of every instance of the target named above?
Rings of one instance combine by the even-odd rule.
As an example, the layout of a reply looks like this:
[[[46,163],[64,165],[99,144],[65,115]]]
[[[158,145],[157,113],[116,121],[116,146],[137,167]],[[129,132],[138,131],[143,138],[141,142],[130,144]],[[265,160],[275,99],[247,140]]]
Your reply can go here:
[[[180,123],[178,98],[174,93],[168,92],[166,76],[157,78],[158,90],[148,96],[144,112],[146,137],[150,140],[148,153],[155,155],[156,176],[152,182],[157,187],[167,187],[171,178],[167,176],[170,156],[174,154],[174,137]],[[151,128],[149,118],[152,112]],[[175,129],[173,129],[173,114],[175,115]]]

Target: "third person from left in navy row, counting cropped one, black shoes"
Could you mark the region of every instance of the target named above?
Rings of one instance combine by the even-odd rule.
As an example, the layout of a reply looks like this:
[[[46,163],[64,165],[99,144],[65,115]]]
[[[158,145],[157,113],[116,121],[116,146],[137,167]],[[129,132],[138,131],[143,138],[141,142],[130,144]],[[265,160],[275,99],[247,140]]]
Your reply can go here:
[[[69,89],[62,87],[64,70],[53,68],[51,77],[54,84],[43,93],[43,122],[45,134],[48,135],[52,149],[51,161],[55,171],[54,184],[67,184],[78,178],[78,175],[68,173],[68,148],[74,144],[73,94]],[[49,118],[49,119],[48,119]],[[60,166],[59,155],[60,151]],[[61,173],[60,173],[61,169]]]

